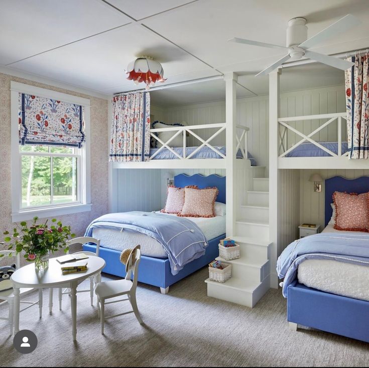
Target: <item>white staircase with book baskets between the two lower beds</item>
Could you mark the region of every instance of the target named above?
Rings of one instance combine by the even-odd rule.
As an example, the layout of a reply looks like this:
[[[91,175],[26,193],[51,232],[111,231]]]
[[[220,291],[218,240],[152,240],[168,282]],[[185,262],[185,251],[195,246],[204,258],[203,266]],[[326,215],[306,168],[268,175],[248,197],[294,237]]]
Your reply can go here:
[[[235,234],[240,258],[221,262],[232,264],[232,278],[225,283],[207,279],[207,295],[254,307],[270,288],[269,178],[265,167],[252,167],[253,183],[240,204]]]

